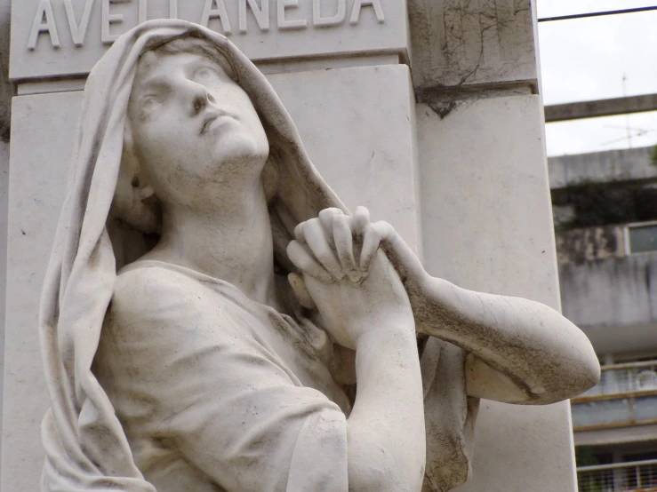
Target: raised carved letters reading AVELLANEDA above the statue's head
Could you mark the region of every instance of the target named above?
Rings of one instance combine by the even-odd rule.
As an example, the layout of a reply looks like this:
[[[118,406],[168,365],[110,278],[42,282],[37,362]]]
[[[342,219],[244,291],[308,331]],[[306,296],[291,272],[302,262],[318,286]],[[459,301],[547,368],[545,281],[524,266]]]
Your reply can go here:
[[[68,30],[77,47],[83,47],[92,20],[92,12],[100,4],[100,33],[103,44],[113,44],[118,36],[133,26],[125,24],[124,13],[119,8],[136,9],[138,22],[146,22],[149,17],[149,6],[153,2],[168,2],[169,18],[179,18],[179,2],[181,0],[85,0],[84,8],[75,7],[73,0],[64,0],[64,8],[68,20]],[[308,19],[300,15],[301,2],[312,2],[312,15]],[[256,21],[260,32],[270,29],[270,12],[275,13],[273,21],[279,31],[300,30],[308,28],[331,28],[349,23],[357,27],[365,10],[371,10],[380,23],[386,21],[381,0],[185,0],[203,5],[200,19],[192,20],[201,25],[213,28],[226,36],[238,31],[245,34],[248,31],[248,17]],[[76,4],[80,4],[77,2]],[[121,7],[120,4],[125,4]],[[227,8],[228,5],[228,8]],[[232,9],[232,10],[231,10]],[[190,19],[191,20],[191,19]],[[36,9],[34,22],[28,39],[28,49],[36,50],[39,39],[48,37],[53,49],[61,47],[60,28],[53,12],[52,0],[41,0]],[[44,36],[42,36],[44,35]]]

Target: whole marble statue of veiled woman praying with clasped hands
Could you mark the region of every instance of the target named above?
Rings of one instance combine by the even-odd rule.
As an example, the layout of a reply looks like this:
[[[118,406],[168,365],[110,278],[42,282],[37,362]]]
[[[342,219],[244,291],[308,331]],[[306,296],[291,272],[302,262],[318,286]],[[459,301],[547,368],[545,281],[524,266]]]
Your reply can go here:
[[[559,313],[433,278],[349,212],[206,28],[121,36],[75,146],[40,313],[44,491],[445,491],[479,399],[597,382]]]

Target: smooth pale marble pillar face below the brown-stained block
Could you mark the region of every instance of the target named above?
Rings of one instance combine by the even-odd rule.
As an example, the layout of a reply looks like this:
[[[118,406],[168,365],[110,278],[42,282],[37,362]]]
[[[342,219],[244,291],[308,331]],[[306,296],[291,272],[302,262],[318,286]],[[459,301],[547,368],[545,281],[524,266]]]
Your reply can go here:
[[[420,106],[417,115],[429,272],[559,309],[540,99],[463,101],[444,120]],[[565,402],[483,402],[475,456],[459,490],[576,490]]]

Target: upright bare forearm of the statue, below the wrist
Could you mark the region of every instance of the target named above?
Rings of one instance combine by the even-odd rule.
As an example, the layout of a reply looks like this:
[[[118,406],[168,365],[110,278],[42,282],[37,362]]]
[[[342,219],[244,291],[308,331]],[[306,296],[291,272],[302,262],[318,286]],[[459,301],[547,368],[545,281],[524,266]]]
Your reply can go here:
[[[426,461],[422,381],[413,326],[359,338],[358,391],[347,421],[349,490],[420,490]],[[381,472],[381,471],[386,472]]]

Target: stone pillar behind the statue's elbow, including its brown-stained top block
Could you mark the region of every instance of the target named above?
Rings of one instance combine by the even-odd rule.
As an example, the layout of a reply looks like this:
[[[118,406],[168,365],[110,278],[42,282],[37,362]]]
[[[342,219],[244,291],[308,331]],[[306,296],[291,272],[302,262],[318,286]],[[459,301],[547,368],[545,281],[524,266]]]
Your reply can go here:
[[[560,308],[535,5],[410,0],[423,246],[432,274]],[[482,401],[464,492],[573,491],[568,402]]]

